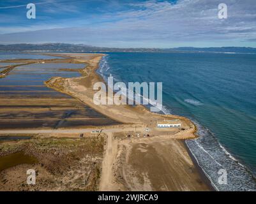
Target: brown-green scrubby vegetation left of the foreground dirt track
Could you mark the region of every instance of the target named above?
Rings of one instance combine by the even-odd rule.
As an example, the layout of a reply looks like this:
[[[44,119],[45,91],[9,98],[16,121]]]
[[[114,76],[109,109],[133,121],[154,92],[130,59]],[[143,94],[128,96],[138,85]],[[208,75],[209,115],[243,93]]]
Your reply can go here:
[[[0,172],[0,190],[97,191],[102,171],[105,136],[85,138],[31,138],[0,143],[1,156],[24,152],[38,163],[20,164]],[[36,170],[36,185],[26,184],[26,170]],[[10,175],[23,175],[16,179]],[[14,171],[14,172],[13,172]],[[22,174],[22,172],[25,172]],[[15,185],[13,185],[13,182]]]

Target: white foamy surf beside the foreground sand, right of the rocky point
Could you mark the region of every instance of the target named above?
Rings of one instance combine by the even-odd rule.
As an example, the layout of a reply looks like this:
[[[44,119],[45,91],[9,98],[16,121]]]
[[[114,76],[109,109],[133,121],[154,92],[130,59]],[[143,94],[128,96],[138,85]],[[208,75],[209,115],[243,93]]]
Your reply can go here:
[[[199,138],[186,140],[193,157],[217,191],[256,191],[253,174],[239,163],[208,129],[195,122]],[[227,184],[219,184],[219,170],[227,171]]]

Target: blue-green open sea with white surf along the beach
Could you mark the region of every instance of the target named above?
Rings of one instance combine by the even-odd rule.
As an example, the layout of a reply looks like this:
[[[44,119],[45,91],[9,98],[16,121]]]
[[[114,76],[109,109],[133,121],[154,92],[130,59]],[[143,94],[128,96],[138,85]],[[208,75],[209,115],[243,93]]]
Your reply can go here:
[[[115,82],[163,82],[163,112],[197,124],[200,137],[186,144],[213,187],[256,190],[256,55],[108,53],[98,73]],[[219,170],[227,184],[218,183]]]

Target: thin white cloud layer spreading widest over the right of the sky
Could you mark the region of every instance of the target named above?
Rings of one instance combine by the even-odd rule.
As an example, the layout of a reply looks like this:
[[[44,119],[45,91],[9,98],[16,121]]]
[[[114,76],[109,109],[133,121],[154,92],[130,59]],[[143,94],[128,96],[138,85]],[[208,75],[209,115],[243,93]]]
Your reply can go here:
[[[244,45],[248,45],[251,41],[246,39],[255,39],[255,1],[226,0],[228,18],[222,20],[218,18],[218,3],[215,0],[179,0],[175,4],[154,0],[132,3],[127,4],[123,11],[96,15],[99,23],[93,25],[89,24],[90,19],[87,18],[72,19],[67,20],[66,25],[61,25],[64,26],[63,29],[0,35],[0,42],[18,39],[21,42],[41,40],[80,43],[84,40],[91,41],[92,45],[112,43],[113,46],[120,47],[137,42],[138,45],[144,43],[147,47],[157,44],[170,47],[174,43],[191,45],[198,42],[208,45],[234,42],[238,45],[244,42]],[[83,25],[83,22],[87,26],[67,26]],[[43,25],[43,29],[47,29],[47,25]]]

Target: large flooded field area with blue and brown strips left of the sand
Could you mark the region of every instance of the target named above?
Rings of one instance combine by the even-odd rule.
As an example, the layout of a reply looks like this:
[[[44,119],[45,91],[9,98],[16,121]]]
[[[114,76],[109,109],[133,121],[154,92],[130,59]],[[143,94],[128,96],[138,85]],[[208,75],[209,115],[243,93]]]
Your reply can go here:
[[[29,59],[31,54],[1,53],[0,56],[2,59]],[[33,59],[60,58],[33,56]],[[12,69],[6,77],[0,78],[0,129],[57,129],[117,124],[77,99],[50,89],[44,84],[51,77],[80,77],[79,70],[85,67],[86,64],[48,62]]]

